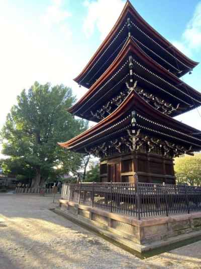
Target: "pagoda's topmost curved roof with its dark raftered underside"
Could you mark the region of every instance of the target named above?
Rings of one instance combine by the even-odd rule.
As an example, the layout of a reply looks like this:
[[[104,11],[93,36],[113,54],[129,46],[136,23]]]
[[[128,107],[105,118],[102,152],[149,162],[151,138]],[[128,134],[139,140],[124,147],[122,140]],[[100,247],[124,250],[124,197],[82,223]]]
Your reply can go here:
[[[129,31],[134,35],[138,45],[170,72],[180,77],[198,64],[183,55],[181,51],[154,30],[127,1],[116,24],[74,81],[89,88],[105,72],[126,42],[128,18],[130,18],[131,24]]]

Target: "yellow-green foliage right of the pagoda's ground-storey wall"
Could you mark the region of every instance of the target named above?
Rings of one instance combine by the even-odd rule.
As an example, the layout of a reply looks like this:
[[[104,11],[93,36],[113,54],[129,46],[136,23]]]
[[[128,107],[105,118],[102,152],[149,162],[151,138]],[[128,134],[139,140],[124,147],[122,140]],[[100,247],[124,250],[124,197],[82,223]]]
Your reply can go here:
[[[201,185],[201,153],[175,158],[174,169],[178,184]]]

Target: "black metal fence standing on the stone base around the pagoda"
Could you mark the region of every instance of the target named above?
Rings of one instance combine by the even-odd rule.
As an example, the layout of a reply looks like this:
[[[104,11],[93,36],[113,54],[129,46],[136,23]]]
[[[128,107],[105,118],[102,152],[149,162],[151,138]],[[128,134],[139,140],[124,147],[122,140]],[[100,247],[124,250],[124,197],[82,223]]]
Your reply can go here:
[[[201,187],[152,183],[63,184],[61,198],[139,220],[201,211]]]

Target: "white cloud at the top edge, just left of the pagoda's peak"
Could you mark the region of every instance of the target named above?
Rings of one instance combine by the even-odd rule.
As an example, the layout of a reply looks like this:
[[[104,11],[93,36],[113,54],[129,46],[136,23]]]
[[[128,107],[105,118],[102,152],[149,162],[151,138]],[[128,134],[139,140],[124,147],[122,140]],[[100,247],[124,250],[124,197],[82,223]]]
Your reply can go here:
[[[100,32],[100,39],[104,39],[117,21],[125,5],[124,0],[97,0],[95,2],[84,1],[87,8],[87,16],[84,19],[83,31],[90,37],[97,27]]]

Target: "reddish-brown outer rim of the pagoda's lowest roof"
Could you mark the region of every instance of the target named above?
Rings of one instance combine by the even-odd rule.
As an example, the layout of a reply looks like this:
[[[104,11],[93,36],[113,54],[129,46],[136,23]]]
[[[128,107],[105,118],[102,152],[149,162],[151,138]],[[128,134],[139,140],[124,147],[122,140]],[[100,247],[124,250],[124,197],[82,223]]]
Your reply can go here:
[[[145,102],[134,90],[126,97],[126,99],[121,103],[121,105],[108,117],[98,122],[95,126],[84,131],[83,133],[77,135],[76,137],[70,139],[64,143],[58,143],[60,146],[65,148],[73,147],[74,144],[91,137],[92,135],[98,133],[100,130],[105,130],[107,127],[111,126],[115,121],[120,119],[125,115],[130,109],[134,109],[138,113],[146,114],[149,117],[152,117],[152,120],[160,121],[160,123],[166,124],[171,128],[174,128],[178,131],[182,131],[185,134],[201,133],[201,131],[192,128],[184,123],[181,123],[168,115],[161,113],[160,111],[154,109],[149,103]],[[199,135],[198,138],[201,138]],[[201,142],[200,142],[201,148]]]

